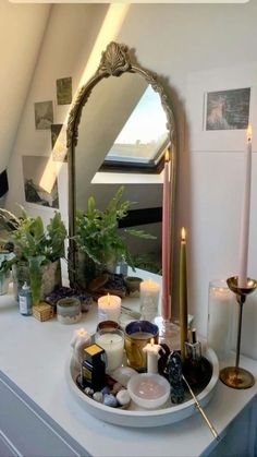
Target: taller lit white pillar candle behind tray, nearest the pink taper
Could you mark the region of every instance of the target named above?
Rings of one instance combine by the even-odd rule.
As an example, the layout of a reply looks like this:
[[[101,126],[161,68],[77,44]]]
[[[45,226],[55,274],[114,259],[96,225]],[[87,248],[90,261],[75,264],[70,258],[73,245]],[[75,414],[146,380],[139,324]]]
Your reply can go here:
[[[160,286],[152,279],[140,282],[140,313],[142,318],[154,321],[158,315]]]

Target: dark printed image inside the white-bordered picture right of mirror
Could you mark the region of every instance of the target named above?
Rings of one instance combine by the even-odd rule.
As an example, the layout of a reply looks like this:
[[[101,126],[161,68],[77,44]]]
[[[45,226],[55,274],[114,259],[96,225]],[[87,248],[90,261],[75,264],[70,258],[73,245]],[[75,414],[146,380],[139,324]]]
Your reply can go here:
[[[206,94],[206,130],[247,129],[250,87]]]

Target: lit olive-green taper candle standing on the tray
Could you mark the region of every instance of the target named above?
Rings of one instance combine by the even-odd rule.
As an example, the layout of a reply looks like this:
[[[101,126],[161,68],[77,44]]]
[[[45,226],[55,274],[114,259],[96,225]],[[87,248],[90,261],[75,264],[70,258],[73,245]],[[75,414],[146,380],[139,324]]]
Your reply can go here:
[[[185,229],[181,230],[180,252],[180,332],[181,359],[185,360],[185,341],[187,341],[187,286],[186,286],[186,241]]]

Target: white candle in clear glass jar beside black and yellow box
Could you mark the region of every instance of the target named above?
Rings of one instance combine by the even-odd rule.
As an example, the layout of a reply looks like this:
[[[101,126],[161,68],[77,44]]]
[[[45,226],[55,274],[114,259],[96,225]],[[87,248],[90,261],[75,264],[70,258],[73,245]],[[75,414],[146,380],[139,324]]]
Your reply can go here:
[[[96,344],[105,349],[107,354],[107,372],[112,372],[122,365],[124,353],[124,335],[121,330],[97,332]]]

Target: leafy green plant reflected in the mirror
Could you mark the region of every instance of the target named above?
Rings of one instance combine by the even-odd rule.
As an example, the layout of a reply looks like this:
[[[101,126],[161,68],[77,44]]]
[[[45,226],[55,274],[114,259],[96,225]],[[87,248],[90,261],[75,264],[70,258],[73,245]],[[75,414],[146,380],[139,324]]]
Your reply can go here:
[[[126,244],[126,236],[155,239],[144,230],[127,228],[119,230],[119,221],[126,217],[133,204],[128,200],[122,201],[124,187],[120,187],[103,211],[96,208],[94,196],[89,196],[86,212],[76,213],[76,234],[74,237],[79,254],[86,257],[86,265],[78,277],[88,280],[102,270],[113,272],[117,263],[125,260],[134,268],[132,255]],[[82,264],[82,261],[78,262]],[[81,267],[79,267],[81,268]],[[85,284],[81,285],[85,287]]]

